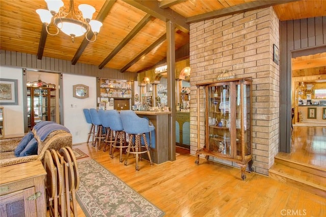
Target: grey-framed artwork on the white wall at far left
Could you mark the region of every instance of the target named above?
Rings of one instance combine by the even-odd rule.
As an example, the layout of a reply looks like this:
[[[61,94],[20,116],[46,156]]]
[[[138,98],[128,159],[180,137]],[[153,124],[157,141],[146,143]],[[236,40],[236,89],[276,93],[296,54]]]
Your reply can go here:
[[[18,105],[18,80],[0,78],[0,104]]]

